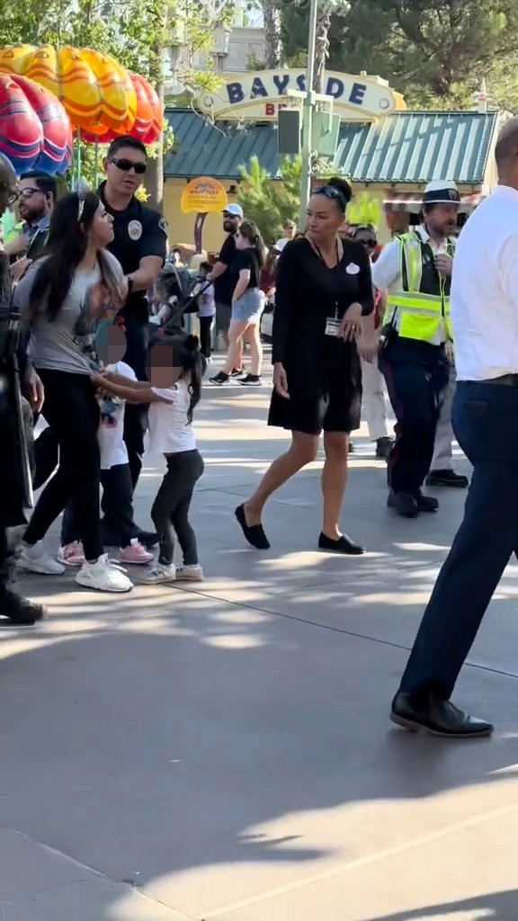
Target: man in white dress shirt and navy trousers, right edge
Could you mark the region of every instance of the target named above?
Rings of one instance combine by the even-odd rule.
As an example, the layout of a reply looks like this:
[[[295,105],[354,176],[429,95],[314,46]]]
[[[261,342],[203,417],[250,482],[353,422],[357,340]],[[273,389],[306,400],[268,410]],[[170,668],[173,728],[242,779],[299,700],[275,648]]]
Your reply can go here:
[[[457,738],[493,729],[450,697],[518,553],[518,119],[500,132],[495,156],[500,185],[467,221],[453,265],[453,428],[473,479],[392,705],[398,725]]]

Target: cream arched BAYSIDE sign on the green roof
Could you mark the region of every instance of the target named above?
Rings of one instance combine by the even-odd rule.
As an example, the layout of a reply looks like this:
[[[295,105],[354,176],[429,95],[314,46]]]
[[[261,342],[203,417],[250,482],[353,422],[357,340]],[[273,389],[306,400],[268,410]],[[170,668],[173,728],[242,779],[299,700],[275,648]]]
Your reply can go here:
[[[204,93],[198,105],[216,119],[244,116],[258,121],[275,120],[279,108],[298,104],[289,99],[291,89],[305,92],[303,72],[262,70],[256,74],[229,75],[215,92]],[[403,98],[374,76],[326,73],[324,95],[333,97],[334,111],[347,122],[370,122],[390,115],[395,109],[406,108]]]

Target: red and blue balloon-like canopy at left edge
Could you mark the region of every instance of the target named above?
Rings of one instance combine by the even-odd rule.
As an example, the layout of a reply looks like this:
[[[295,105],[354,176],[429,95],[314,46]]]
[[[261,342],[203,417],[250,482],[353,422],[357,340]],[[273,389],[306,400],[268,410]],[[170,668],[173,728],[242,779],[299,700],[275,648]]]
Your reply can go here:
[[[0,151],[17,173],[65,173],[72,159],[70,119],[59,99],[26,76],[0,74]]]

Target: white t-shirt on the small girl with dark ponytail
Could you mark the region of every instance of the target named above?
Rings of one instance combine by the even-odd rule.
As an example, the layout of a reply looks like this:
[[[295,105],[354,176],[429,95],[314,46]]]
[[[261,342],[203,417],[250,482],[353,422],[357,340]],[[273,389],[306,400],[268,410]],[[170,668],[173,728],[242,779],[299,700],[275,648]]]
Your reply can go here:
[[[191,394],[184,380],[171,388],[152,387],[163,401],[149,406],[149,429],[146,450],[160,454],[178,454],[196,447],[193,426],[187,420]]]

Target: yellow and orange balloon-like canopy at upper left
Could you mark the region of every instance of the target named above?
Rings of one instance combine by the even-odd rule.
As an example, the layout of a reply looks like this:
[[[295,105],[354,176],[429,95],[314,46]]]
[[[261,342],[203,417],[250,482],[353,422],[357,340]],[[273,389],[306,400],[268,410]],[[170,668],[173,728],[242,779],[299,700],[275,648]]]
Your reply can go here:
[[[34,80],[60,100],[73,130],[106,143],[130,134],[153,144],[162,130],[157,93],[144,77],[88,48],[11,45],[0,48],[0,73]]]

